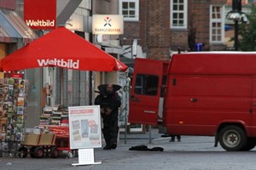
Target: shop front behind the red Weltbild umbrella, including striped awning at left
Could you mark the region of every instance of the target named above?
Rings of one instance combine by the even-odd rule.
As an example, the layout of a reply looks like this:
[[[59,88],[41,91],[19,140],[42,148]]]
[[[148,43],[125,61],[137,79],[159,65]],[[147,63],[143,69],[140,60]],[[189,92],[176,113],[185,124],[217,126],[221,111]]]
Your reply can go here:
[[[42,37],[50,30],[32,29],[24,21],[26,0],[1,1],[0,21],[0,58],[26,46],[29,42]],[[105,7],[108,7],[105,8]],[[111,9],[111,10],[110,10]],[[56,0],[56,25],[65,26],[87,41],[93,42],[108,54],[119,59],[123,51],[117,40],[119,36],[108,36],[108,43],[98,41],[91,32],[93,14],[118,14],[118,1]],[[8,26],[4,27],[6,23]],[[76,49],[74,49],[76,50]],[[28,80],[26,127],[39,124],[44,107],[55,105],[79,106],[93,105],[97,86],[102,83],[117,83],[125,87],[125,72],[73,71],[57,67],[35,68],[20,71]],[[127,114],[127,94],[120,92],[123,106],[120,111]],[[125,112],[126,111],[126,112]]]

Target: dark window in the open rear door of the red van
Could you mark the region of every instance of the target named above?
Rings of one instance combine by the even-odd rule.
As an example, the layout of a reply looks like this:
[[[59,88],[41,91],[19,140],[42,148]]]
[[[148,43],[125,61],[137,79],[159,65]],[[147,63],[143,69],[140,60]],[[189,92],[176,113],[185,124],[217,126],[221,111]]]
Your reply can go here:
[[[154,75],[137,74],[135,94],[156,95],[159,77]]]

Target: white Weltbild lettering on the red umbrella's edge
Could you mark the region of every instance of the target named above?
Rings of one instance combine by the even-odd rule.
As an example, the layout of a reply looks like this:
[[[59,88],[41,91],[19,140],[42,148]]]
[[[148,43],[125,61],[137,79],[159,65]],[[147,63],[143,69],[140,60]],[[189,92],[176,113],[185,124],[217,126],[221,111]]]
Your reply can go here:
[[[38,59],[38,65],[44,66],[60,66],[68,69],[79,69],[79,59]]]

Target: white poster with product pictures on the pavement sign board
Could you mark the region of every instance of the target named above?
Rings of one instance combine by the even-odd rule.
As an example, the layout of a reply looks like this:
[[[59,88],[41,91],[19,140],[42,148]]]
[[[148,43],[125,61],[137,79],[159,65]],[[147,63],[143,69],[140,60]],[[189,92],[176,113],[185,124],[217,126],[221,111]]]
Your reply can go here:
[[[99,105],[68,107],[70,149],[102,147]]]

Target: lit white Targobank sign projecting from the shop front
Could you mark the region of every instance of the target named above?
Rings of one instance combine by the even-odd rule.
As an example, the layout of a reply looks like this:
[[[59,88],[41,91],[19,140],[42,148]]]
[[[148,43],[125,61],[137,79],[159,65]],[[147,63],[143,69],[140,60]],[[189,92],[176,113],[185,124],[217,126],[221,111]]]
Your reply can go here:
[[[124,18],[118,14],[94,14],[92,16],[93,34],[119,35],[124,33]]]

